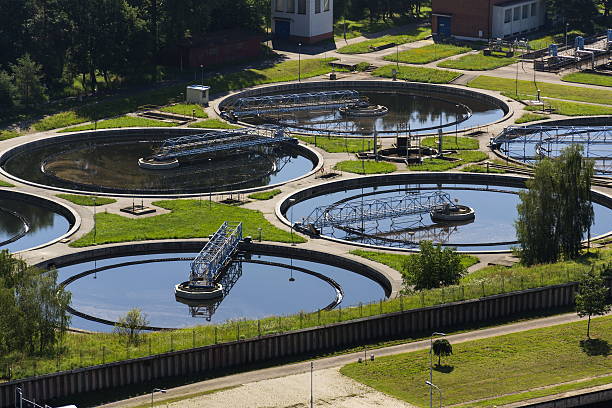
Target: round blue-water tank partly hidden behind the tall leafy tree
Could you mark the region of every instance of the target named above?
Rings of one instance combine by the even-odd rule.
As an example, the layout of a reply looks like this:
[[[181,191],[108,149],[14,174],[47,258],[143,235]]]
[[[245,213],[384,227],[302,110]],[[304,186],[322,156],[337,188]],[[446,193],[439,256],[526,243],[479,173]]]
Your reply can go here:
[[[277,205],[277,215],[288,223],[285,214],[292,211],[301,232],[358,246],[412,251],[430,240],[465,252],[509,251],[517,244],[514,221],[524,180],[452,173],[361,177],[300,190]],[[448,211],[427,207],[434,195],[443,197]],[[609,199],[593,197],[591,236],[609,235]],[[423,207],[388,212],[409,203]]]

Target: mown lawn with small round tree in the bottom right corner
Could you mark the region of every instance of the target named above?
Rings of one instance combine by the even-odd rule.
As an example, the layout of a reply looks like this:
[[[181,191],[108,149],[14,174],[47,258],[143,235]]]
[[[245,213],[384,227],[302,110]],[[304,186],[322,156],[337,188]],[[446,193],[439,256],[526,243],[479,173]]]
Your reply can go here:
[[[612,317],[595,319],[593,331],[593,337],[602,344],[612,342]],[[586,323],[576,322],[455,344],[453,355],[443,358],[443,365],[437,367],[433,383],[444,390],[444,403],[451,405],[610,374],[612,359],[607,353],[586,352],[582,347],[585,334]],[[380,357],[367,365],[352,363],[340,372],[403,401],[426,406],[429,387],[423,378],[428,369],[429,350],[421,350]],[[612,381],[612,376],[608,375],[607,379],[605,383]],[[588,385],[588,382],[583,384]],[[555,392],[549,389],[544,394]],[[530,397],[525,394],[519,400]],[[437,393],[434,398],[437,401]],[[467,405],[497,403],[483,401]]]

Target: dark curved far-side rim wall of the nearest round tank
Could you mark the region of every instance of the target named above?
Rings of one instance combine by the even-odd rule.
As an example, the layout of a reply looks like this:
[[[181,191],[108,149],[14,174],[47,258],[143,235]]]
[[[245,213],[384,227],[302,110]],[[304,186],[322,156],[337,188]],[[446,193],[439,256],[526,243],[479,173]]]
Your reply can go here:
[[[64,254],[57,257],[49,258],[34,265],[34,267],[46,270],[54,268],[62,268],[65,266],[80,264],[97,259],[111,259],[123,256],[145,255],[145,254],[163,254],[171,252],[199,252],[206,240],[171,240],[171,241],[154,241],[154,242],[138,242],[131,244],[114,244],[101,248],[91,248]],[[303,261],[315,263],[324,263],[329,266],[345,269],[352,273],[357,273],[366,278],[371,279],[385,292],[387,298],[394,293],[393,277],[388,276],[384,271],[378,270],[363,262],[356,261],[343,255],[329,254],[326,252],[315,251],[312,249],[296,248],[292,246],[263,244],[254,242],[240,242],[239,250],[252,252],[260,255],[279,256],[282,258],[293,258]],[[77,274],[78,275],[78,274]],[[69,279],[69,278],[68,278]],[[65,279],[64,281],[66,281]],[[77,311],[78,312],[78,311]],[[82,312],[79,312],[82,313]],[[84,314],[84,313],[82,313]],[[90,316],[93,321],[96,321],[95,316]],[[171,330],[170,328],[162,327],[147,327],[151,330]]]

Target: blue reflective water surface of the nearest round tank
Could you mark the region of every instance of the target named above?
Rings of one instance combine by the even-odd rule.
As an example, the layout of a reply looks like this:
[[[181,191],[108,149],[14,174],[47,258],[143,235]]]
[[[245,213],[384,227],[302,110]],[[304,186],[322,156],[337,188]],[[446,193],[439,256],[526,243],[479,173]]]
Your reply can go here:
[[[59,280],[105,265],[158,258],[193,259],[196,254],[155,254],[90,261],[59,270]],[[385,297],[382,287],[373,280],[354,272],[316,262],[253,255],[253,260],[271,261],[286,267],[244,262],[242,276],[228,296],[218,305],[212,322],[229,319],[259,319],[271,315],[286,315],[300,311],[313,312],[329,305],[335,290],[325,281],[290,266],[300,266],[326,275],[344,290],[342,307],[359,302],[376,301]],[[67,286],[72,292],[72,307],[93,316],[116,320],[128,310],[138,307],[145,312],[150,325],[187,327],[206,324],[201,317],[192,317],[187,305],[174,297],[174,285],[187,280],[189,261],[143,263],[111,268],[82,277]],[[290,282],[292,277],[295,281]],[[111,326],[73,317],[72,326],[87,330],[110,331]]]

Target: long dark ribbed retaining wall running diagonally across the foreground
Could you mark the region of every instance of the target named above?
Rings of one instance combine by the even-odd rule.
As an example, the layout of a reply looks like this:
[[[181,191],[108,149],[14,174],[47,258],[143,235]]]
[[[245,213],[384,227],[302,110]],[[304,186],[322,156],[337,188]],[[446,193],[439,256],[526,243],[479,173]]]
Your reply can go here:
[[[576,290],[576,283],[529,289],[11,381],[0,384],[0,408],[13,406],[16,387],[42,402],[171,377],[213,374],[569,306]]]

